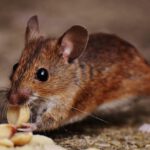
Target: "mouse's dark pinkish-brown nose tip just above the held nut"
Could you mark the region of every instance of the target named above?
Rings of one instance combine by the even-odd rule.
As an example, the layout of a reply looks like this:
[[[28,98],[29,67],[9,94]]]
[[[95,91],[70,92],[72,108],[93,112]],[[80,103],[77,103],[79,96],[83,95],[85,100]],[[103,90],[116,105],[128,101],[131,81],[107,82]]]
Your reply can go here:
[[[17,91],[10,91],[8,93],[8,101],[12,105],[22,105],[27,102],[31,91],[28,89],[21,89]]]

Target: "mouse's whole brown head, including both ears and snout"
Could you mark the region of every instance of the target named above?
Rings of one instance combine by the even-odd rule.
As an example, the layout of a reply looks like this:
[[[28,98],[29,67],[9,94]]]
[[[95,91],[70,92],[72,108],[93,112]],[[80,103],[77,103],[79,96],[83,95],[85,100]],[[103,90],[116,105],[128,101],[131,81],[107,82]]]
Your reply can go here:
[[[35,97],[63,95],[74,82],[76,60],[87,41],[87,30],[78,25],[58,39],[45,38],[39,33],[37,16],[31,17],[27,23],[24,51],[11,74],[9,103],[20,105]]]

